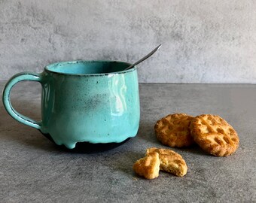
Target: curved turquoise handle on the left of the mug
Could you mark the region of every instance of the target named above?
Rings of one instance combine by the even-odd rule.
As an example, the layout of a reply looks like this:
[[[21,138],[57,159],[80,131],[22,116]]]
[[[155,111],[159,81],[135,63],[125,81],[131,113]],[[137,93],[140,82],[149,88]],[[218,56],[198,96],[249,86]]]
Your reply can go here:
[[[13,77],[11,77],[11,79],[8,80],[8,83],[6,83],[5,85],[5,89],[2,96],[5,109],[8,112],[8,114],[11,115],[11,117],[19,121],[20,123],[23,123],[27,126],[31,126],[35,129],[41,130],[42,129],[41,122],[36,122],[35,120],[32,120],[29,117],[23,116],[22,114],[18,113],[11,105],[11,100],[10,100],[11,89],[16,83],[23,80],[32,80],[32,81],[41,83],[42,77],[41,77],[41,74],[35,74],[32,72],[22,72],[19,74],[15,74]]]

